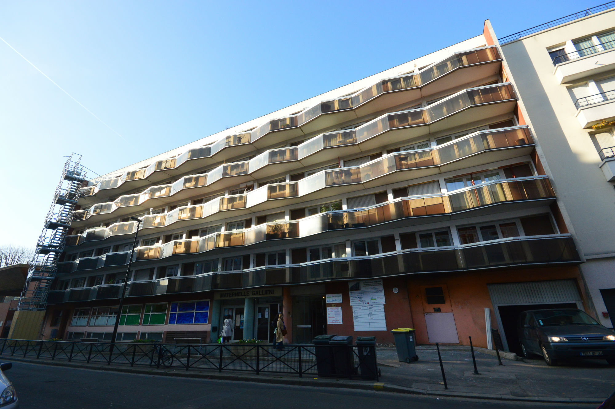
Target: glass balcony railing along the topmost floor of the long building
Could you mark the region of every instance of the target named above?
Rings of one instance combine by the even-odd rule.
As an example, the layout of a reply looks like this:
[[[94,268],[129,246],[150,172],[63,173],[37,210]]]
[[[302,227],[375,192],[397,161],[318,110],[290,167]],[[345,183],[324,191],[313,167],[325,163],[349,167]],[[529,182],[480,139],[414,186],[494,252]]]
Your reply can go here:
[[[374,98],[383,95],[384,93],[398,92],[400,90],[422,87],[423,85],[429,84],[429,82],[432,82],[435,79],[445,76],[446,74],[451,73],[455,69],[462,68],[464,66],[496,62],[499,60],[501,60],[501,58],[499,57],[496,47],[484,47],[482,49],[473,49],[464,52],[458,52],[451,55],[450,57],[445,58],[441,62],[428,66],[427,68],[423,69],[423,71],[419,71],[419,73],[404,74],[399,77],[383,79],[382,81],[379,81],[376,84],[371,85],[370,87],[366,87],[365,89],[362,89],[353,95],[336,98],[334,100],[322,101],[314,106],[311,106],[310,108],[304,109],[303,111],[301,111],[301,113],[298,113],[296,115],[267,121],[266,123],[256,127],[250,132],[243,132],[236,135],[228,135],[216,141],[210,146],[202,146],[200,148],[189,149],[185,153],[180,154],[177,158],[157,161],[154,164],[149,165],[149,167],[146,169],[131,170],[124,173],[124,175],[119,178],[103,180],[98,183],[97,189],[95,189],[95,191],[116,188],[125,181],[143,179],[145,177],[148,177],[148,175],[150,175],[151,173],[156,172],[157,170],[172,169],[173,167],[178,167],[190,159],[213,156],[216,153],[220,152],[222,149],[229,146],[245,145],[247,143],[252,143],[269,132],[300,127],[301,125],[312,121],[312,119],[319,117],[322,114],[357,108],[357,106],[363,105],[364,103],[371,101]],[[425,115],[427,116],[428,114]],[[415,116],[415,114],[413,114],[413,116]],[[427,119],[429,119],[429,117],[426,117],[423,120]],[[413,119],[413,121],[419,121],[419,119],[415,118]],[[352,132],[354,131],[350,131],[348,132],[348,134],[351,134]],[[343,134],[346,132],[342,131],[334,133]],[[349,135],[345,135],[344,138],[347,136]],[[327,141],[325,141],[325,144],[326,143]],[[343,143],[343,145],[346,145],[346,143]],[[327,148],[328,146],[335,145],[325,145],[324,147]],[[299,157],[302,157],[301,149],[299,151]]]

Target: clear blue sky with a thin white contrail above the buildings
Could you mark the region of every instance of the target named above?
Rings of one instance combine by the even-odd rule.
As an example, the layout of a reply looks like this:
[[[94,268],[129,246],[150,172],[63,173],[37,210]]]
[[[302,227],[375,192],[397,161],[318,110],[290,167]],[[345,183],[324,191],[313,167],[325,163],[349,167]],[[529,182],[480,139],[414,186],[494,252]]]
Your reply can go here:
[[[3,1],[0,245],[34,247],[65,158],[104,174],[482,33],[598,2]],[[91,175],[92,173],[90,173]]]

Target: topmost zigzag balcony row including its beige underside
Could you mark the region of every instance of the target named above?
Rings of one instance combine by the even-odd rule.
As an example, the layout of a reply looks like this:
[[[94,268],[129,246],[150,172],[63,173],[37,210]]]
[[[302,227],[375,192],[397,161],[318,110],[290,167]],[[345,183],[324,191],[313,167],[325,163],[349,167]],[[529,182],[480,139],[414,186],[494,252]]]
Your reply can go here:
[[[223,137],[212,145],[189,149],[176,158],[157,161],[146,168],[125,172],[120,177],[102,180],[97,185],[84,189],[83,193],[91,195],[109,189],[119,188],[125,191],[138,188],[143,186],[143,183],[129,182],[148,180],[149,183],[152,183],[164,180],[169,175],[189,172],[198,167],[224,161],[230,157],[247,154],[254,149],[265,148],[279,143],[279,141],[288,140],[288,138],[316,132],[319,129],[356,117],[399,106],[407,101],[418,100],[426,95],[435,95],[453,89],[455,85],[469,84],[499,73],[500,61],[501,58],[496,47],[459,52],[419,71],[419,73],[383,79],[353,95],[320,102],[298,114],[272,119],[253,130]],[[461,73],[459,71],[459,69],[473,66],[478,66],[478,68],[472,70],[472,72],[466,72],[466,70]],[[450,81],[446,81],[446,83],[436,81],[453,73],[459,73],[459,75],[451,78]],[[408,92],[410,95],[402,95]],[[369,103],[370,101],[378,101],[378,103]],[[278,136],[265,138],[269,134]],[[236,148],[226,149],[231,147]],[[210,160],[189,164],[196,159],[204,158]],[[122,185],[126,186],[122,188]]]

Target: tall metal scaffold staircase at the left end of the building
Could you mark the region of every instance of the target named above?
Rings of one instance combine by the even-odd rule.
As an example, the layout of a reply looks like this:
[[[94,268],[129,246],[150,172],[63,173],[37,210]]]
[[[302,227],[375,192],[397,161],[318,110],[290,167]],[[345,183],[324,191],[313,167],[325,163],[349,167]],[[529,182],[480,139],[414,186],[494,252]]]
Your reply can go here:
[[[54,201],[36,243],[34,258],[19,300],[20,310],[41,311],[47,307],[47,293],[55,278],[60,255],[64,251],[66,233],[79,199],[79,188],[85,181],[85,172],[80,162],[81,155],[73,153],[64,164],[62,178],[55,189]]]

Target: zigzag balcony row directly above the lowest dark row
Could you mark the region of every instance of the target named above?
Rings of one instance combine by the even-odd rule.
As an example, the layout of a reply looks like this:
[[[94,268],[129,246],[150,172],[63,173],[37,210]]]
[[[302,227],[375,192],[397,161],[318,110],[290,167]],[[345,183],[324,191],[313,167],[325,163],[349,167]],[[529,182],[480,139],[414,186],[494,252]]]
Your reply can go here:
[[[134,261],[159,260],[173,255],[205,253],[215,248],[249,246],[268,240],[299,239],[323,232],[345,234],[348,229],[375,226],[410,218],[450,215],[481,207],[554,199],[547,177],[498,180],[445,195],[414,196],[395,199],[358,210],[335,210],[301,220],[260,224],[241,231],[216,232],[204,237],[173,240],[162,245],[137,247]],[[133,222],[134,223],[134,222]],[[79,244],[83,236],[69,236],[69,245]],[[74,241],[76,239],[76,241]],[[98,269],[128,263],[128,254],[107,253],[100,257],[80,258],[58,263],[58,273]]]

